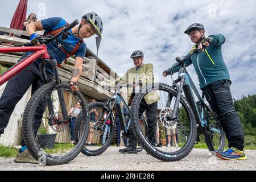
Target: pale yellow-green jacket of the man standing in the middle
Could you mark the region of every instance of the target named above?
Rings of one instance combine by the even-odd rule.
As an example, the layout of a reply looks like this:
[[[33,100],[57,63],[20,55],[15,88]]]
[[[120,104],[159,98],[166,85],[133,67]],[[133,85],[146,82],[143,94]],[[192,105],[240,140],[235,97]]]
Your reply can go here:
[[[140,68],[130,68],[125,75],[117,80],[110,82],[109,86],[115,86],[117,83],[119,84],[134,84],[137,81],[142,82],[142,86],[147,84],[154,83],[154,73],[153,73],[153,65],[152,64],[143,64]],[[138,76],[138,79],[137,79]],[[131,94],[133,93],[133,88],[127,89],[127,98],[130,100]],[[158,92],[150,92],[144,97],[145,101],[148,105],[153,104],[160,100]]]

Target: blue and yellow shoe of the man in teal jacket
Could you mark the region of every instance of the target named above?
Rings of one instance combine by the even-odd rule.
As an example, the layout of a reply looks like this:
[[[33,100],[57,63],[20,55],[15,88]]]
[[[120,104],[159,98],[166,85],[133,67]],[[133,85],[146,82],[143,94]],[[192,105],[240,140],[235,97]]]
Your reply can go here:
[[[221,152],[217,154],[218,158],[224,160],[245,160],[246,155],[245,152],[238,150],[237,148],[229,148],[225,152]]]

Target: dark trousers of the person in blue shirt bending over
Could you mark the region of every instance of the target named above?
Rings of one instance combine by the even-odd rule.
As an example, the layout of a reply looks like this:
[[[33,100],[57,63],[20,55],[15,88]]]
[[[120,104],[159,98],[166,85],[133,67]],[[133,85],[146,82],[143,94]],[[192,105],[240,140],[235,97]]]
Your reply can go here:
[[[27,55],[24,54],[22,59]],[[20,59],[21,60],[21,59]],[[51,73],[46,73],[47,78],[53,77]],[[20,99],[27,92],[28,88],[32,85],[32,94],[38,90],[43,85],[43,76],[40,72],[38,65],[32,63],[26,69],[23,69],[18,75],[11,78],[3,91],[2,97],[0,99],[0,135],[4,133],[7,127],[11,114],[20,101]],[[42,121],[42,114],[46,108],[46,103],[41,102],[38,109],[36,110],[34,127],[37,131],[40,127]],[[23,144],[23,143],[22,143]]]

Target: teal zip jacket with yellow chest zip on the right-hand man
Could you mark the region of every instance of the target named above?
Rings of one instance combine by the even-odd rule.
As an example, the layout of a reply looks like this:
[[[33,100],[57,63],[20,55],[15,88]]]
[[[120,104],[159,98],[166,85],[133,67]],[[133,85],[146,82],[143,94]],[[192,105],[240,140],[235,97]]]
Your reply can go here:
[[[221,46],[225,43],[225,37],[221,34],[210,35],[213,39],[204,52],[194,55],[185,62],[185,66],[193,64],[199,77],[200,89],[219,80],[230,80],[228,68],[222,57]],[[173,72],[178,72],[179,68]],[[172,68],[169,69],[171,71]]]

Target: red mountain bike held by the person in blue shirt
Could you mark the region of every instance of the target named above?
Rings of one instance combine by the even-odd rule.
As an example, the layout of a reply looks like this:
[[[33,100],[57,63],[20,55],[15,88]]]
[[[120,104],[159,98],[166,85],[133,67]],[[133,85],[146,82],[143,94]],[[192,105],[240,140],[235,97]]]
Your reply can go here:
[[[81,113],[88,115],[86,102],[81,92],[73,92],[71,85],[60,80],[57,70],[57,61],[49,56],[47,44],[62,36],[67,38],[69,30],[79,24],[75,20],[55,36],[40,38],[40,46],[32,43],[16,44],[15,47],[0,48],[1,53],[7,52],[34,52],[32,55],[20,60],[13,67],[0,76],[0,85],[17,75],[35,60],[41,59],[39,65],[43,75],[44,85],[39,88],[30,98],[23,114],[22,130],[23,138],[30,154],[46,165],[65,164],[73,160],[82,150],[88,135],[88,118],[84,118],[84,126],[81,127],[80,140],[72,145],[69,138],[69,115],[68,107],[79,102]],[[46,64],[52,65],[54,77],[47,81]],[[26,81],[26,80],[24,80]],[[68,105],[69,103],[69,105]],[[44,134],[44,135],[43,135]]]

